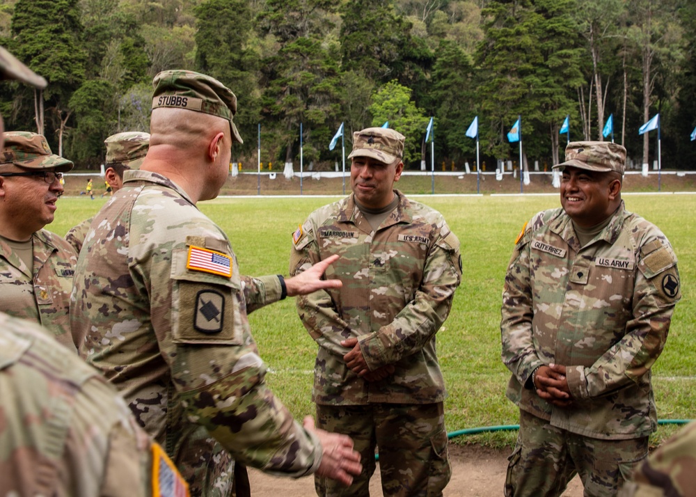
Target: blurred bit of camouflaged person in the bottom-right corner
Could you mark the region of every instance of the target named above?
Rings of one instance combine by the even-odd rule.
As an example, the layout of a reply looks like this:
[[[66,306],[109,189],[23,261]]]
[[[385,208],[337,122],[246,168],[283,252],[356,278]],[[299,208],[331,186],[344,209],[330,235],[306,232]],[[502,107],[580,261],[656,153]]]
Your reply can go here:
[[[695,497],[696,422],[665,441],[642,461],[619,497]]]

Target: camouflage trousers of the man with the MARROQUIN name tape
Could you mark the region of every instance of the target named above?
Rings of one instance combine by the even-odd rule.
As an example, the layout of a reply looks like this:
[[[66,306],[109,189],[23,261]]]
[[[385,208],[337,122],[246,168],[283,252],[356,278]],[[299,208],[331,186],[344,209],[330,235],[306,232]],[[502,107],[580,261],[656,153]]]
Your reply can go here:
[[[452,469],[442,402],[317,405],[317,425],[328,432],[349,435],[363,464],[363,472],[350,487],[315,477],[319,496],[369,496],[375,447],[379,448],[385,497],[437,497],[450,481]]]

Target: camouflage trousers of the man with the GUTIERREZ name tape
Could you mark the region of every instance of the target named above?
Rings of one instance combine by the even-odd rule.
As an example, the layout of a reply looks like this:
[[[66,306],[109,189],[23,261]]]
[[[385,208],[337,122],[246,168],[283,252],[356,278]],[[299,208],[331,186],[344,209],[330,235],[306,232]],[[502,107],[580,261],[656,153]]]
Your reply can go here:
[[[647,436],[591,439],[520,411],[520,431],[509,457],[505,496],[560,496],[579,473],[585,497],[613,497],[647,454]]]

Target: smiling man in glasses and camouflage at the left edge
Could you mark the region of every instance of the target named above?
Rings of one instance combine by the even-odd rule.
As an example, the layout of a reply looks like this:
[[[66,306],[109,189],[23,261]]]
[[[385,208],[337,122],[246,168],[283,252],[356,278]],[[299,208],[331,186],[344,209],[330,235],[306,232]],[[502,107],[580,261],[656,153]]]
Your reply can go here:
[[[70,292],[77,253],[44,228],[63,193],[72,162],[53,155],[46,139],[8,132],[0,163],[0,310],[38,322],[77,350],[70,334]]]

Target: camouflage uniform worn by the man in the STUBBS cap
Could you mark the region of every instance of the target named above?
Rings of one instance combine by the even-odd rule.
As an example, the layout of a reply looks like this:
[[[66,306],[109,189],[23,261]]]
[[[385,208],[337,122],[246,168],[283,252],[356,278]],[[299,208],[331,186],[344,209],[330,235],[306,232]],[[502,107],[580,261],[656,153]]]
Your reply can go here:
[[[92,228],[71,308],[80,354],[121,390],[191,494],[230,494],[232,456],[316,471],[321,445],[267,388],[249,329],[247,310],[280,298],[277,276],[240,277],[226,235],[156,173],[126,171]],[[218,260],[217,274],[196,253]]]

